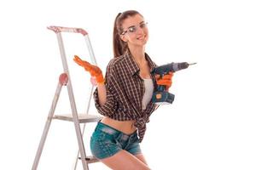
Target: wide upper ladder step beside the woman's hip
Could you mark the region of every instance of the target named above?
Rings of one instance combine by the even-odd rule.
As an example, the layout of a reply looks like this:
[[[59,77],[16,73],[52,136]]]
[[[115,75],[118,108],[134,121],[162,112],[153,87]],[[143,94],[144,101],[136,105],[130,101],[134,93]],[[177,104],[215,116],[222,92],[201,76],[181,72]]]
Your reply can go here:
[[[79,123],[99,122],[100,120],[102,120],[102,116],[89,115],[89,114],[78,114],[78,116],[79,116]],[[55,115],[55,116],[53,116],[53,118],[63,120],[63,121],[73,122],[73,115],[72,114]]]

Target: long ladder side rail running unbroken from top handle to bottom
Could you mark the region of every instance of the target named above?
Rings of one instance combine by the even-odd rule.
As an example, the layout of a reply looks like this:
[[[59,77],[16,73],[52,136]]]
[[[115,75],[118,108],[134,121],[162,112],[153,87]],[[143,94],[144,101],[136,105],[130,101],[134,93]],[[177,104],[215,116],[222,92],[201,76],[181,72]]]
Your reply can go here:
[[[68,66],[67,66],[67,58],[66,58],[66,54],[65,54],[65,50],[64,50],[62,37],[61,37],[61,32],[57,32],[56,35],[57,35],[57,39],[58,39],[58,43],[59,43],[59,47],[60,47],[60,51],[61,51],[61,60],[62,60],[63,69],[69,79],[69,81],[67,83],[67,92],[68,92],[68,97],[69,97],[69,101],[70,101],[70,105],[71,105],[71,109],[72,109],[73,122],[74,122],[75,130],[76,130],[77,138],[78,138],[78,142],[79,142],[79,150],[80,150],[80,154],[81,154],[81,158],[82,158],[82,164],[83,164],[84,170],[89,170],[88,163],[85,161],[86,154],[85,154],[85,150],[84,150],[84,142],[83,142],[83,137],[82,137],[81,129],[80,129],[80,125],[79,125],[79,116],[78,116],[78,111],[77,111],[76,104],[75,104],[75,99],[73,96],[73,87],[72,87],[72,82],[71,82],[71,79],[69,76],[69,71],[68,71]]]

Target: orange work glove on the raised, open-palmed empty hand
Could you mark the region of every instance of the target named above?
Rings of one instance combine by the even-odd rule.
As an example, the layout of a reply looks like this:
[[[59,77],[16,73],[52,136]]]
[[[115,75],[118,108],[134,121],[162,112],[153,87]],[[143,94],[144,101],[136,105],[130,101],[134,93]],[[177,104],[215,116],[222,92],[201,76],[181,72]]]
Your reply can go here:
[[[90,65],[89,62],[80,59],[79,56],[77,56],[77,55],[74,55],[73,60],[78,65],[84,67],[85,71],[89,71],[91,77],[96,77],[96,82],[98,84],[104,83],[102,70],[99,67],[97,67],[96,65]]]

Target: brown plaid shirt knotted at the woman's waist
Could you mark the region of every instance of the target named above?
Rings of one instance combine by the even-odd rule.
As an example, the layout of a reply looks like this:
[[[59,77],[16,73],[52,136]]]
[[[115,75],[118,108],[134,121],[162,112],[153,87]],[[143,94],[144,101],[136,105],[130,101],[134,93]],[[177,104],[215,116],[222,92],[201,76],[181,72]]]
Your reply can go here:
[[[145,56],[151,72],[156,65],[148,54]],[[118,121],[135,120],[134,126],[138,129],[141,142],[146,131],[146,123],[149,122],[149,116],[155,111],[157,105],[150,101],[146,109],[143,110],[142,101],[145,87],[143,79],[139,76],[139,71],[137,63],[129,52],[111,59],[105,76],[107,102],[102,106],[99,104],[97,88],[94,92],[94,99],[97,111],[103,116]],[[150,77],[154,80],[155,89],[154,75],[150,74]]]

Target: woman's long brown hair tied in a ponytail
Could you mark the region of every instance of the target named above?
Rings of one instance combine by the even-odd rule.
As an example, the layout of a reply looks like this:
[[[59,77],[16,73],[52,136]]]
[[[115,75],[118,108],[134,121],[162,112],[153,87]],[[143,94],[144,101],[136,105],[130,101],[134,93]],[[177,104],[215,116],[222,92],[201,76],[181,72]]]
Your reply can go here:
[[[121,40],[120,34],[123,32],[122,24],[125,19],[129,16],[134,16],[140,14],[136,10],[127,10],[123,13],[119,13],[113,24],[113,56],[119,57],[125,53],[125,50],[128,49],[127,43]],[[140,14],[143,16],[142,14]]]

